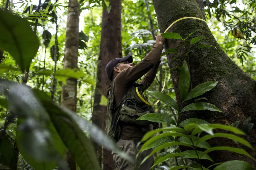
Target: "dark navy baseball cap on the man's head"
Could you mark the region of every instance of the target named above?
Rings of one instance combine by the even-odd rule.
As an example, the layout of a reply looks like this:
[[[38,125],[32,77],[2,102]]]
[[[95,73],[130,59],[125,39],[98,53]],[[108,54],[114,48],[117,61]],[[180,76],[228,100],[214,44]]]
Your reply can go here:
[[[129,63],[132,63],[133,59],[132,59],[132,55],[129,54],[123,58],[116,58],[111,60],[108,65],[106,66],[106,73],[107,76],[109,77],[109,79],[111,81],[113,81],[113,72],[114,72],[114,67],[116,67],[116,65],[120,62],[124,62],[124,61],[128,61]]]

